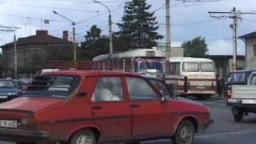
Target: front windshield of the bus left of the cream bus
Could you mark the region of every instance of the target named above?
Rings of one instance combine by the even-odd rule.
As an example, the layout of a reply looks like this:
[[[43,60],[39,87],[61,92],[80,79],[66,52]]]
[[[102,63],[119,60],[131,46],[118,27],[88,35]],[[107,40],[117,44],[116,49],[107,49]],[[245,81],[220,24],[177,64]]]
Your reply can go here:
[[[163,62],[162,59],[141,59],[138,62],[138,72],[154,72],[163,73]]]

